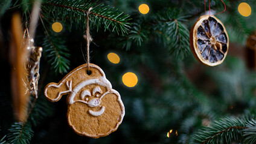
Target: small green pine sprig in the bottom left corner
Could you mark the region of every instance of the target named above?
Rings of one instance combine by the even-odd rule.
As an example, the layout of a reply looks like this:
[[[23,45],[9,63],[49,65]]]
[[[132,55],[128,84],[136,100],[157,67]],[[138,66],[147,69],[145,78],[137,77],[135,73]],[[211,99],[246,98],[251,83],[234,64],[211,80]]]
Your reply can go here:
[[[27,144],[30,143],[34,135],[31,125],[28,122],[26,124],[15,122],[11,125],[9,131],[10,133],[7,135],[8,143]]]

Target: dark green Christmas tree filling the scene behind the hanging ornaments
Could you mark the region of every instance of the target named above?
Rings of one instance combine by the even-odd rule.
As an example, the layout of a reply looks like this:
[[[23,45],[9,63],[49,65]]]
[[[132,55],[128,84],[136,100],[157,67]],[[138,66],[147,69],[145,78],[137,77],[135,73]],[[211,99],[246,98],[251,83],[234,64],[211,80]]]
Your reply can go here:
[[[255,9],[255,1],[228,0],[2,0],[0,143],[256,143]],[[227,56],[214,67],[190,48],[190,29],[209,14],[229,37]],[[86,64],[86,22],[90,62],[126,107],[117,131],[98,139],[76,134],[66,98],[51,103],[43,92]],[[13,83],[23,81],[13,73],[25,54],[13,47],[21,46],[33,47],[27,61],[35,67],[25,68],[33,76],[20,116]]]

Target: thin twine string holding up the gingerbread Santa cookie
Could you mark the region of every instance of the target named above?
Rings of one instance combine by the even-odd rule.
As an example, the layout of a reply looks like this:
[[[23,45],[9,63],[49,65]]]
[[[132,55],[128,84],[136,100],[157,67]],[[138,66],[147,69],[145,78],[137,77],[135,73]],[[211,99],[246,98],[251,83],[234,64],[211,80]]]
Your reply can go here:
[[[87,51],[87,65],[88,65],[88,71],[89,71],[89,63],[90,63],[90,55],[89,55],[89,46],[90,46],[90,43],[92,41],[92,37],[90,35],[90,28],[89,28],[89,20],[90,20],[90,17],[89,17],[89,14],[90,14],[90,11],[92,10],[92,7],[89,8],[89,10],[86,12],[86,51]]]

